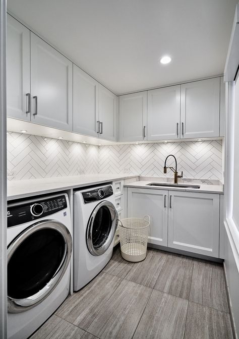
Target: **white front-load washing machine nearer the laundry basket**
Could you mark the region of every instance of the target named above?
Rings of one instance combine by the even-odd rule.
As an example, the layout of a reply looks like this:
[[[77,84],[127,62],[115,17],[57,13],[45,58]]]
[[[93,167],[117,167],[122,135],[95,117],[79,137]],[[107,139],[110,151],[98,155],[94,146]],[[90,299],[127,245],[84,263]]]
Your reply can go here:
[[[74,193],[74,291],[88,284],[110,260],[117,218],[112,185]]]

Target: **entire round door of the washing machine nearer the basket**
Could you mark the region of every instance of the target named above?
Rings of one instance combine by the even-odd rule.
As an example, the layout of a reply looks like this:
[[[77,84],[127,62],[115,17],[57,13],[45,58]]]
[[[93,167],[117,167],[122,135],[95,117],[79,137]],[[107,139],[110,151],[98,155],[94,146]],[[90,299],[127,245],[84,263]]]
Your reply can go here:
[[[86,243],[92,255],[107,251],[114,239],[118,213],[110,201],[101,201],[91,213],[86,230]]]

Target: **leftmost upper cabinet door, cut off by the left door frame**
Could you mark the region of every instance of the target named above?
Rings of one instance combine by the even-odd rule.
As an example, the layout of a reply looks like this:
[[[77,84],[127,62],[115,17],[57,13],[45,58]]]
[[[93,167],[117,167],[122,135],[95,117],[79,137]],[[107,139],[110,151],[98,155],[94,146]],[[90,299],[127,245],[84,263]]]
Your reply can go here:
[[[30,93],[30,31],[8,15],[7,115],[9,117],[30,121],[27,93]]]

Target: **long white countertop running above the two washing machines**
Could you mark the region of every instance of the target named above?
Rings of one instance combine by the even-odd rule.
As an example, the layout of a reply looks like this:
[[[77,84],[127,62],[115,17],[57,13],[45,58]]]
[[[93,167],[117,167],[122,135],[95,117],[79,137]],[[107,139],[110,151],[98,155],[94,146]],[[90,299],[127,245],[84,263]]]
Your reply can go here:
[[[74,188],[107,183],[114,180],[136,177],[139,177],[139,175],[92,174],[71,177],[13,180],[8,182],[8,200],[21,199],[40,194],[65,191]]]

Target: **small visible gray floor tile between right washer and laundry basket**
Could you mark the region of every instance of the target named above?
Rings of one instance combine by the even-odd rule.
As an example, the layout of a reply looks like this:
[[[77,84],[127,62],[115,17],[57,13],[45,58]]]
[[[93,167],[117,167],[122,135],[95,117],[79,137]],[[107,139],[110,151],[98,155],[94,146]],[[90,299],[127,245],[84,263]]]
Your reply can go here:
[[[132,263],[122,258],[121,248],[117,247],[113,251],[112,258],[110,259],[108,264],[104,267],[103,272],[116,275],[120,278],[124,278],[131,268]]]

